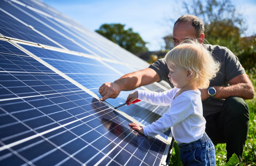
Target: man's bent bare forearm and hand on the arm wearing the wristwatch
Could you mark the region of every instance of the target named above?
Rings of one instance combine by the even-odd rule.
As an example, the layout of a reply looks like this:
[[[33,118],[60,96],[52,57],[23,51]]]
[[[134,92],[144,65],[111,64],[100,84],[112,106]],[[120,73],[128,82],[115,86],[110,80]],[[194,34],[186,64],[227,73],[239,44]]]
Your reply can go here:
[[[234,77],[229,82],[230,86],[213,86],[216,89],[214,98],[225,99],[229,96],[239,96],[243,99],[254,98],[254,87],[247,74],[241,74]],[[209,98],[208,89],[200,89],[202,100]]]

